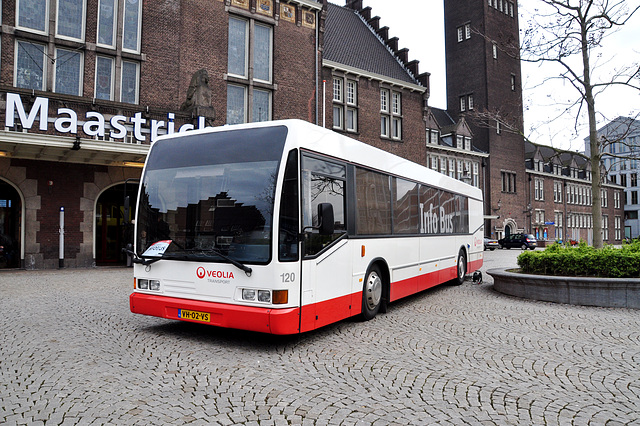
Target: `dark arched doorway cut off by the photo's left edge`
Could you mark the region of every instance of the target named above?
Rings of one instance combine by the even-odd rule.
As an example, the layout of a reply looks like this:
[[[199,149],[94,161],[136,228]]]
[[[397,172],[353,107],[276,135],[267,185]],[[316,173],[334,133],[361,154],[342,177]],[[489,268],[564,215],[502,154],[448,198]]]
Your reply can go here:
[[[0,179],[0,268],[20,267],[21,227],[20,194]]]

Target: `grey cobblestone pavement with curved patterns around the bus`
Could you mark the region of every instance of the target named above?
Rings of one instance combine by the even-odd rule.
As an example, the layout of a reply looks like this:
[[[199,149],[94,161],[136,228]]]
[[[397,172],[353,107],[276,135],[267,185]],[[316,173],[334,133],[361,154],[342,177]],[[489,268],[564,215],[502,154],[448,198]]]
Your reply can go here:
[[[0,424],[640,425],[638,311],[485,275],[273,337],[131,314],[131,275],[0,273]]]

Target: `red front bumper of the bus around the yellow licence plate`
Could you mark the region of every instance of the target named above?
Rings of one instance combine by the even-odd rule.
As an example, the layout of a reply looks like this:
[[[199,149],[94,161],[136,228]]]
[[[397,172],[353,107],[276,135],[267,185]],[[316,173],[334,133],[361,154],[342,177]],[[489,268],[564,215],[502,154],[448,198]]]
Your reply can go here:
[[[256,308],[137,292],[129,296],[129,305],[134,314],[261,333],[296,334],[300,332],[299,308]],[[187,319],[181,315],[183,311],[207,313],[208,321]]]

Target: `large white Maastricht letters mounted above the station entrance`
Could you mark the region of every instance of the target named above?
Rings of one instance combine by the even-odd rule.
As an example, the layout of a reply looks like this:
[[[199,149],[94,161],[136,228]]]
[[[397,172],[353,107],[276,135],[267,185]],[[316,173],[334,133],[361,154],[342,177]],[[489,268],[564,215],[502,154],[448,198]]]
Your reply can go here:
[[[125,140],[127,137],[127,125],[133,128],[133,137],[139,142],[145,142],[145,134],[150,135],[150,141],[154,142],[161,134],[176,133],[175,114],[168,113],[167,120],[148,120],[142,116],[142,112],[137,112],[133,117],[124,115],[114,115],[107,119],[103,114],[96,111],[87,111],[84,114],[86,121],[78,121],[78,113],[70,108],[58,108],[57,117],[49,116],[49,99],[45,97],[36,97],[29,113],[27,114],[22,98],[16,93],[7,93],[7,102],[5,108],[5,126],[13,127],[15,120],[20,119],[22,128],[30,130],[36,118],[40,122],[38,127],[42,131],[49,130],[49,122],[53,122],[54,129],[59,133],[78,134],[78,130],[82,131],[89,137],[104,137],[107,123],[109,123],[109,136],[112,139]],[[206,127],[205,117],[198,117],[198,129]],[[193,124],[184,124],[178,129],[178,133],[193,130],[196,127]]]

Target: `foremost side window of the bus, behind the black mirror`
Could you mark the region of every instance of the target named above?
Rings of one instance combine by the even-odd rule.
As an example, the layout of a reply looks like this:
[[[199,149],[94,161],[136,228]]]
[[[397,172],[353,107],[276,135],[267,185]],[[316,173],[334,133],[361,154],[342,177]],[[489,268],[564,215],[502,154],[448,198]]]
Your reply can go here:
[[[343,235],[345,224],[346,167],[311,157],[303,157],[302,163],[302,220],[303,228],[317,227],[318,204],[330,203],[334,212],[334,233],[320,235],[318,231],[305,233],[304,254],[313,256],[329,243]],[[310,230],[310,229],[308,229]]]

